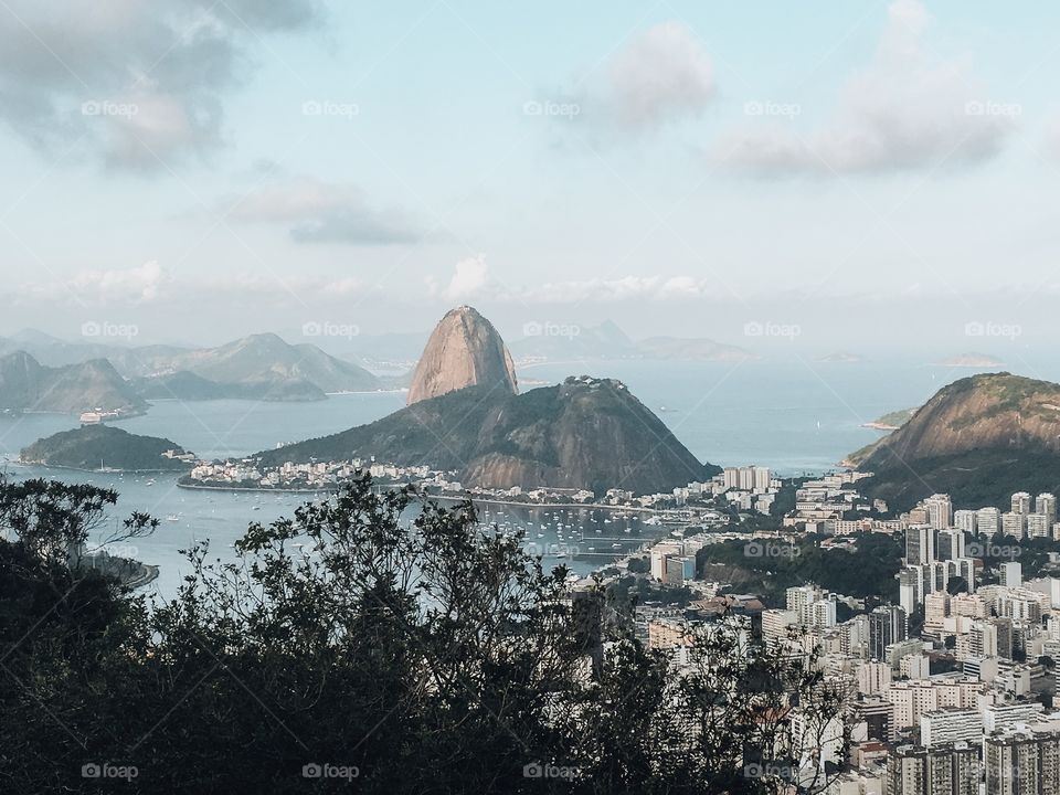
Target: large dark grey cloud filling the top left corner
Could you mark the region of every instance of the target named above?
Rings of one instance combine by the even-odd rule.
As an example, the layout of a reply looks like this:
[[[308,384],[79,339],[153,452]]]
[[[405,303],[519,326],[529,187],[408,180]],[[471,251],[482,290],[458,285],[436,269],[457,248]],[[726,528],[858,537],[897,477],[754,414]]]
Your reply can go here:
[[[315,0],[8,0],[0,123],[45,151],[87,142],[116,168],[203,156],[259,36],[320,18]]]

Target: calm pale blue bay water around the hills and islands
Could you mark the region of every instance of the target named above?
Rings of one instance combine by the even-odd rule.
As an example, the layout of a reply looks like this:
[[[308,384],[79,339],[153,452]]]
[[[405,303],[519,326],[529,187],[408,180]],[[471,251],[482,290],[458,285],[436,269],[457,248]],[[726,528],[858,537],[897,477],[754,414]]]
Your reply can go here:
[[[972,372],[893,362],[604,361],[526,368],[520,378],[549,382],[569,374],[619,378],[701,460],[760,464],[793,475],[834,467],[845,454],[879,437],[878,432],[860,427],[861,423],[895,409],[919,405],[943,384]],[[147,415],[123,421],[119,426],[172,439],[202,457],[222,458],[342,431],[384,416],[403,404],[401,393],[335,395],[320,403],[160,401]],[[0,417],[0,455],[13,460],[25,445],[76,424],[76,417],[64,415]],[[230,544],[247,522],[289,515],[308,499],[306,495],[180,489],[176,476],[170,475],[151,478],[15,465],[8,469],[13,477],[47,476],[112,487],[121,495],[117,517],[142,510],[161,519],[158,532],[136,545],[140,560],[160,566],[155,587],[166,595],[174,592],[187,572],[178,550],[209,539],[211,556],[231,560]],[[596,553],[610,551],[612,543],[627,549],[645,530],[635,518],[604,523],[598,512],[556,516],[505,508],[498,516],[496,508],[490,510],[490,521],[524,529],[528,541],[545,552],[556,551],[555,544],[576,547],[581,552],[593,545]],[[562,529],[560,523],[564,524]],[[545,560],[556,562],[552,555]],[[600,561],[568,558],[563,562],[587,572]]]

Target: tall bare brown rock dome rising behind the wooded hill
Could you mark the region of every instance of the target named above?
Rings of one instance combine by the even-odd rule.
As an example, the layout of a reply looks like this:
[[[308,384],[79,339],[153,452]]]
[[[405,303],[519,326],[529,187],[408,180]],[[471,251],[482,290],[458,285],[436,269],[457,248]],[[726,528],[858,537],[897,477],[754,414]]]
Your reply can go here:
[[[516,368],[497,329],[477,310],[462,306],[446,312],[416,364],[407,404],[467,386],[516,394]]]

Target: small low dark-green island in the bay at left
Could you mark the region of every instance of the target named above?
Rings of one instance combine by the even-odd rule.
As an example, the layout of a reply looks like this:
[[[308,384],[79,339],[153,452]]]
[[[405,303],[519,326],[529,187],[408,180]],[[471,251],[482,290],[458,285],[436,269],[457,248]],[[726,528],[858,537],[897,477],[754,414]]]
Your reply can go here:
[[[83,425],[40,438],[19,454],[23,464],[106,471],[186,471],[193,453],[167,438],[110,425]]]

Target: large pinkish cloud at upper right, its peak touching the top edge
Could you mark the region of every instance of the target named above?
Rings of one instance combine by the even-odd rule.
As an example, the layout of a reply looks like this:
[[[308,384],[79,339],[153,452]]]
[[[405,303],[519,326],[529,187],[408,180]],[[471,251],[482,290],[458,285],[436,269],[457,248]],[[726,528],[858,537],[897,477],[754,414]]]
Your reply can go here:
[[[895,0],[876,55],[847,82],[831,118],[799,136],[792,121],[723,135],[712,157],[762,176],[901,171],[995,156],[1019,107],[992,98],[966,59],[940,61],[923,44],[919,0]]]

